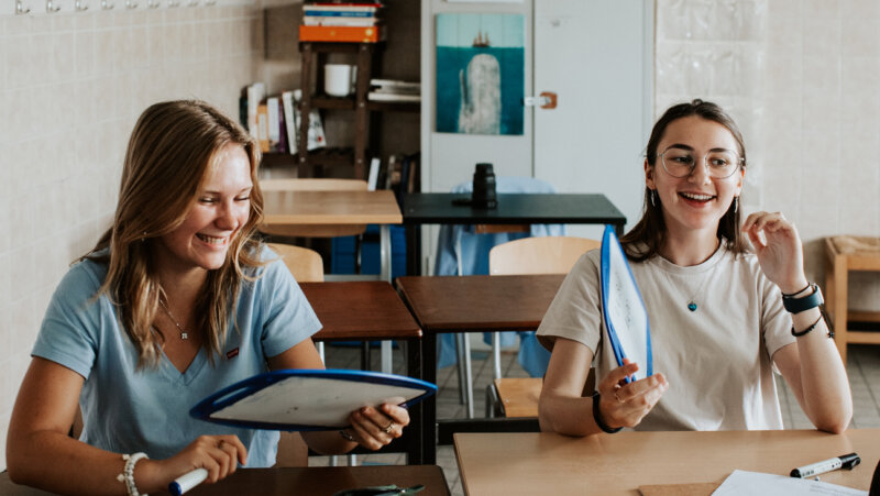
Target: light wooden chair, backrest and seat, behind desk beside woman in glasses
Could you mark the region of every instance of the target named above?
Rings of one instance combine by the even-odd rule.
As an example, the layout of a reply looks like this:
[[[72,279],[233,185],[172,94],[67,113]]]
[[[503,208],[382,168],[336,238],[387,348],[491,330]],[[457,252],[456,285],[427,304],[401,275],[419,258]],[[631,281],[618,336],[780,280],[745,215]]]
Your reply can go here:
[[[590,250],[602,246],[602,242],[572,236],[525,238],[499,244],[488,252],[490,274],[568,274],[574,263]],[[502,378],[501,338],[492,338],[492,355],[495,381],[486,390],[486,412],[501,412],[505,417],[537,417],[538,397],[541,394],[543,371],[550,353],[526,333],[519,346],[519,362],[532,377]],[[540,374],[538,372],[541,372]],[[497,405],[499,408],[493,407]]]

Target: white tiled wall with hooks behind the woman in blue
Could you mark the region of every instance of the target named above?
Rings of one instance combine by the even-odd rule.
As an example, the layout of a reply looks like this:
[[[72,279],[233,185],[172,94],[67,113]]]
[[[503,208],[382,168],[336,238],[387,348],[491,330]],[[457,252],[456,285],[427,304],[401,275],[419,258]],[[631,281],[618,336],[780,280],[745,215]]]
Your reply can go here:
[[[109,225],[128,136],[148,104],[199,98],[238,114],[262,55],[253,0],[0,12],[0,471],[12,404],[67,265]],[[182,1],[182,3],[185,3]]]

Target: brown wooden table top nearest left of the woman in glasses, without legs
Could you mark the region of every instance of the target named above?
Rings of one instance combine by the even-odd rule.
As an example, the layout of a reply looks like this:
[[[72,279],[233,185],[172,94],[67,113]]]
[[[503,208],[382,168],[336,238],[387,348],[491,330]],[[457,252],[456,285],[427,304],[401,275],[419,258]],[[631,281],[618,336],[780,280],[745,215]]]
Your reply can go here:
[[[397,287],[425,332],[518,331],[538,328],[564,278],[405,276]]]

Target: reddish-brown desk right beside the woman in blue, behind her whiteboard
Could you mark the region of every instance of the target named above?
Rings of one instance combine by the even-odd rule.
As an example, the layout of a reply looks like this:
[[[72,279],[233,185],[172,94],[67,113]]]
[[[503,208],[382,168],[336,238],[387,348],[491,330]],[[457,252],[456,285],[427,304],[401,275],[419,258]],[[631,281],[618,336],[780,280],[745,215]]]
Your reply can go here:
[[[383,280],[300,283],[322,328],[316,341],[403,340],[407,374],[422,378],[421,329],[397,296]],[[424,401],[409,409],[410,425],[404,436],[383,451],[405,451],[409,463],[424,463]],[[370,453],[369,451],[362,451]]]

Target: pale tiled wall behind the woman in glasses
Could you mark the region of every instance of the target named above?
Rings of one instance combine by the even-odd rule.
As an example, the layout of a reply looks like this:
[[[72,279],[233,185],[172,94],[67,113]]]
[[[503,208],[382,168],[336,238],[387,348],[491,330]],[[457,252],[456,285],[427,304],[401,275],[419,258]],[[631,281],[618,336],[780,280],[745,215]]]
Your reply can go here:
[[[880,236],[880,3],[658,0],[656,114],[703,98],[746,139],[746,211],[781,211],[824,282],[823,236]],[[880,309],[877,273],[850,305]]]

